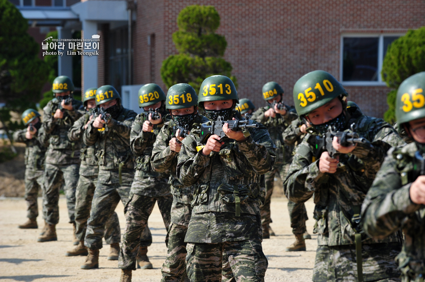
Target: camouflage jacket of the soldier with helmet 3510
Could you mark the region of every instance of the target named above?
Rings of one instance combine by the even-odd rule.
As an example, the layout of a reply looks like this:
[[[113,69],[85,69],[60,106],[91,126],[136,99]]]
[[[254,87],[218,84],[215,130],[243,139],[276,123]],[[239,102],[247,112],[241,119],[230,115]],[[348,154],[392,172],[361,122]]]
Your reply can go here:
[[[329,174],[319,171],[317,138],[307,134],[296,148],[283,182],[285,194],[292,202],[305,202],[314,194],[314,219],[317,221],[314,233],[319,234],[318,245],[354,244],[354,234],[360,227],[353,217],[360,216],[360,207],[388,149],[404,143],[394,128],[382,119],[365,116],[353,107],[347,112],[350,118],[346,127],[355,123],[356,132],[367,142],[357,144],[350,154],[339,155],[337,171]],[[362,240],[380,243],[399,241],[399,238],[393,235],[379,241],[368,238],[363,232]]]

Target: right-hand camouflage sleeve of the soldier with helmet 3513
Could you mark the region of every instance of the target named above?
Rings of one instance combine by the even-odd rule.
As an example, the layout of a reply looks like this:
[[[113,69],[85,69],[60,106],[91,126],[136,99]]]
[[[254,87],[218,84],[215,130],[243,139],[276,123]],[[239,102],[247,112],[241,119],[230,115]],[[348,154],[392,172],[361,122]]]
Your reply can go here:
[[[275,146],[269,133],[263,134],[264,130],[248,137],[244,142],[237,142],[238,150],[243,152],[252,169],[258,174],[271,171],[275,165]]]

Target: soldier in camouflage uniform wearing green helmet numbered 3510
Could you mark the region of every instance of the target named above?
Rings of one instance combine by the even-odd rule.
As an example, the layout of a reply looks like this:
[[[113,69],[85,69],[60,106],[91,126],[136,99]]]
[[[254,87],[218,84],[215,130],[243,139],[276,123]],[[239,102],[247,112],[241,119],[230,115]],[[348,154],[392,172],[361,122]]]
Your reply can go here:
[[[313,281],[396,281],[394,257],[401,234],[383,240],[368,237],[360,226],[360,208],[385,153],[403,141],[382,119],[365,116],[357,107],[346,108],[347,95],[324,71],[310,72],[295,83],[297,113],[312,128],[296,149],[283,188],[295,203],[314,194],[318,247]],[[350,125],[365,143],[343,147],[334,137],[336,155],[319,146],[317,134],[326,133],[329,126],[350,132]]]

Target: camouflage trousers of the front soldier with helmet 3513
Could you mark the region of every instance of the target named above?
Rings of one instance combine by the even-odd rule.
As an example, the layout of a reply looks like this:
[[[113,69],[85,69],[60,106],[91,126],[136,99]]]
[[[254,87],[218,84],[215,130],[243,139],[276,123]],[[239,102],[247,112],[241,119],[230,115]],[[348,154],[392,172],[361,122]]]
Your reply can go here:
[[[268,262],[260,240],[187,243],[187,276],[191,282],[220,281],[226,258],[235,277],[233,281],[264,281]]]

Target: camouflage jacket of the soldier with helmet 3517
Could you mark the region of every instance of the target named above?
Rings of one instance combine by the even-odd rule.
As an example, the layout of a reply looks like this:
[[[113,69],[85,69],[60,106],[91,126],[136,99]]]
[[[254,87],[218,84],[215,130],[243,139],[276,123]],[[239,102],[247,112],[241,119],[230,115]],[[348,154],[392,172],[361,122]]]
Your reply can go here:
[[[111,119],[105,127],[93,127],[92,119],[83,134],[83,142],[87,146],[97,146],[100,171],[133,171],[134,156],[130,149],[130,130],[136,113],[122,108],[116,119]]]

